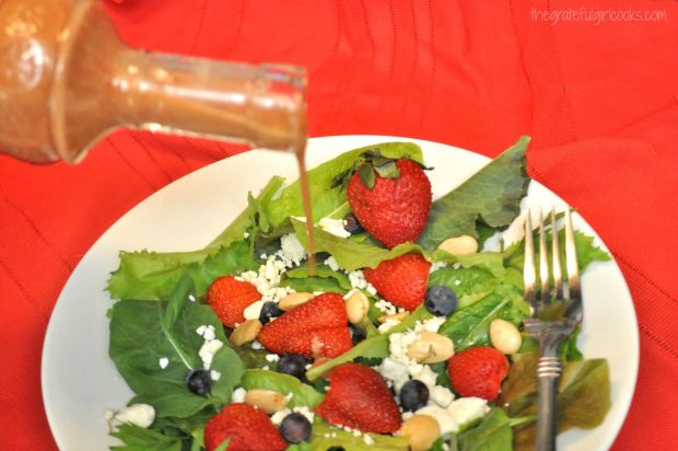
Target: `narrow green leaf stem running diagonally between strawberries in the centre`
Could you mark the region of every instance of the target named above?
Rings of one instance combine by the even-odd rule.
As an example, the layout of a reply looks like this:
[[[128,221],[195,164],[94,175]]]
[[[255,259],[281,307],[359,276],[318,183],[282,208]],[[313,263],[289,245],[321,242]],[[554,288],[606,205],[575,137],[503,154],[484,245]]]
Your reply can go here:
[[[411,314],[409,314],[405,320],[391,327],[385,334],[375,335],[366,338],[360,342],[358,345],[353,346],[353,348],[351,348],[350,350],[343,352],[341,356],[335,357],[334,359],[326,361],[323,365],[312,368],[311,370],[306,371],[306,378],[309,381],[314,381],[332,368],[338,367],[341,363],[352,361],[353,359],[356,359],[359,357],[384,358],[388,356],[389,335],[413,328],[414,324],[417,324],[418,321],[423,322],[430,317],[432,317],[431,313],[423,305],[419,305]]]

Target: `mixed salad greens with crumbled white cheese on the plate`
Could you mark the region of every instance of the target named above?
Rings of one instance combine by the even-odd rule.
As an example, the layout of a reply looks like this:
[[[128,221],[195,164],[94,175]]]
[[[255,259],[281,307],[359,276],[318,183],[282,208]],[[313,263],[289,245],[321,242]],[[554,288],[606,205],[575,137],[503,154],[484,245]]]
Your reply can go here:
[[[344,234],[327,227],[332,224],[331,220],[341,220],[351,211],[346,187],[337,180],[365,152],[377,150],[385,158],[407,158],[423,164],[417,144],[386,142],[354,149],[308,171],[315,218],[315,274],[309,273],[305,252],[300,254],[295,248],[307,246],[308,241],[300,184],[285,186],[279,176],[273,176],[258,195],[249,194],[247,208],[202,250],[120,252],[120,266],[112,274],[107,287],[116,300],[108,313],[109,355],[136,395],[129,401],[129,408],[107,415],[112,435],[121,442],[114,449],[203,449],[204,428],[210,418],[225,405],[243,402],[244,393],[252,390],[278,392],[285,400],[285,412],[302,412],[309,419],[309,437],[290,443],[290,450],[408,449],[406,435],[347,430],[314,414],[328,393],[324,375],[331,378],[330,371],[344,362],[362,363],[383,375],[394,398],[401,404],[398,385],[402,381],[389,379],[391,373],[384,370],[385,360],[395,358],[394,337],[435,323],[435,333],[448,337],[458,354],[467,348],[492,346],[490,324],[494,320],[522,328],[522,320],[528,313],[523,299],[524,245],[516,242],[508,246],[502,244],[494,251],[482,248],[489,238],[505,230],[519,213],[529,183],[525,171],[527,143],[528,138],[522,138],[460,186],[434,200],[418,241],[393,248],[384,247],[366,232]],[[439,248],[451,236],[461,235],[477,240],[481,251],[453,255]],[[582,270],[594,261],[609,259],[593,244],[593,238],[575,232],[575,241]],[[375,268],[406,254],[419,254],[432,263],[428,286],[453,290],[457,305],[454,312],[436,316],[421,304],[409,314],[391,316],[386,327],[384,316],[405,312],[384,301],[365,282],[362,273],[364,268]],[[281,356],[256,339],[239,346],[230,340],[233,329],[224,326],[206,302],[210,286],[223,276],[252,281],[264,300],[272,302],[295,292],[350,296],[358,290],[367,299],[369,309],[364,319],[351,325],[353,346],[348,351],[330,359],[306,359],[306,371],[297,378],[279,372]],[[607,362],[584,359],[576,346],[576,335],[561,348],[564,363],[558,393],[561,432],[598,426],[610,404]],[[441,425],[440,437],[430,449],[533,447],[537,344],[525,334],[521,338],[519,349],[507,356],[511,365],[499,397],[491,402],[480,400],[480,407],[474,413],[457,415],[452,426]],[[423,367],[431,392],[449,393],[452,400],[456,395],[452,402],[469,398],[455,392],[445,362]],[[195,386],[187,386],[187,378],[199,369],[207,369],[210,380],[204,382],[207,389],[196,392]],[[407,378],[416,379],[412,374]],[[435,401],[429,401],[428,405],[452,412],[449,398],[444,403],[444,407]],[[406,410],[402,415],[407,419],[412,414]],[[273,423],[279,424],[280,418],[273,418]],[[226,441],[221,448],[227,444]]]

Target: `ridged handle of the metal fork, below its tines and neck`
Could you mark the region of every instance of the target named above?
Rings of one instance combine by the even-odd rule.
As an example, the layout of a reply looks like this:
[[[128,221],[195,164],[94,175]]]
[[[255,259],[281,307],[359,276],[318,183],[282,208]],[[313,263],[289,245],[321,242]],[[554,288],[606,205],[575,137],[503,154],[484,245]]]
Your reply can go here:
[[[562,366],[559,357],[542,356],[537,367],[539,404],[537,406],[537,451],[556,450],[556,394]]]

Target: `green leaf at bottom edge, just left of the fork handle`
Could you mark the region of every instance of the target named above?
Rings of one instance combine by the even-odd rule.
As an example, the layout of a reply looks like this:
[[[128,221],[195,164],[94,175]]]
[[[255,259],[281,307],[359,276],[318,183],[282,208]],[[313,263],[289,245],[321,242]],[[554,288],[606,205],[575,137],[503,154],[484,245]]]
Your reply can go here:
[[[493,408],[480,425],[458,435],[459,451],[512,451],[513,430],[501,408]]]

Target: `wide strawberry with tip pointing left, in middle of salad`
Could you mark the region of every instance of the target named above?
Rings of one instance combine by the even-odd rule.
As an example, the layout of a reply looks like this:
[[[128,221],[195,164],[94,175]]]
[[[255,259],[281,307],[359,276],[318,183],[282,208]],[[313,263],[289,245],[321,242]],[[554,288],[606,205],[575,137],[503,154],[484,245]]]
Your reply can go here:
[[[324,293],[266,324],[257,336],[276,354],[337,357],[353,343],[341,294]]]

